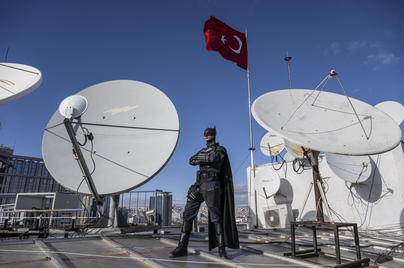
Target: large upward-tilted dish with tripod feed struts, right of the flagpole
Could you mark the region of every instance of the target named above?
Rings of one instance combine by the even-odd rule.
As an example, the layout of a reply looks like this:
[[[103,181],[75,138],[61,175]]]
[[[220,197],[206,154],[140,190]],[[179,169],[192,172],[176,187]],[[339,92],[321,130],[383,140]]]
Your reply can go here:
[[[346,96],[323,91],[315,100],[309,97],[312,92],[306,89],[269,92],[254,101],[252,115],[269,132],[325,153],[374,155],[399,144],[400,127],[379,109],[349,98],[363,130]]]

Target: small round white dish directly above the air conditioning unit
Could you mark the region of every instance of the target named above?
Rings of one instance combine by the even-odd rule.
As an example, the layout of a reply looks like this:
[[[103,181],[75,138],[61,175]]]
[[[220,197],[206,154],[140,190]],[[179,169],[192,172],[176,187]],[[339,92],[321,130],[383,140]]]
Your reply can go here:
[[[280,178],[275,170],[266,167],[257,172],[254,177],[254,188],[257,194],[269,198],[278,193]]]

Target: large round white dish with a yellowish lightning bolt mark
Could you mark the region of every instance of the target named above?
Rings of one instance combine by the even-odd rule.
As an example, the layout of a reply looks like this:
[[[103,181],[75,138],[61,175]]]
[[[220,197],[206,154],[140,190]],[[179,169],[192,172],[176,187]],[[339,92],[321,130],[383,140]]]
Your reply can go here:
[[[116,80],[90,86],[77,93],[88,100],[82,124],[94,136],[93,149],[81,146],[98,194],[117,195],[145,184],[156,176],[173,155],[179,137],[177,111],[170,99],[148,84]],[[56,111],[48,127],[63,122]],[[102,124],[97,126],[91,124]],[[118,127],[119,126],[119,127]],[[78,142],[84,142],[82,129]],[[50,174],[64,187],[85,195],[82,172],[72,154],[65,126],[45,130],[42,154]]]

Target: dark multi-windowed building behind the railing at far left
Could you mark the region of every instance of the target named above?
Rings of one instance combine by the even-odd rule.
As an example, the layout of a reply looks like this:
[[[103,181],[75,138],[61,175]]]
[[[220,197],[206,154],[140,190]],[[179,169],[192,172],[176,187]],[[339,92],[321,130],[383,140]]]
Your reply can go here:
[[[49,174],[44,159],[13,153],[13,149],[0,144],[0,158],[12,165],[0,162],[1,205],[14,203],[17,193],[65,193],[65,188]],[[48,209],[49,203],[50,199],[42,209]]]

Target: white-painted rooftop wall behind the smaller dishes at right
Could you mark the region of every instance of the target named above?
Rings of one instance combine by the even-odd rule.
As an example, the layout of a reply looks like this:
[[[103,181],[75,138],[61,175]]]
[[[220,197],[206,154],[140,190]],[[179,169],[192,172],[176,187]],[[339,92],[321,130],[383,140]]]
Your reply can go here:
[[[341,220],[332,214],[335,222],[357,223],[362,227],[385,228],[390,226],[404,226],[404,143],[398,147],[380,155],[371,155],[372,173],[361,184],[354,184],[353,193],[360,197],[359,203],[352,200],[345,181],[337,177],[328,167],[324,155],[319,156],[319,170],[323,178],[328,182],[329,189],[326,193],[329,206],[335,210]],[[377,163],[377,164],[376,164]],[[297,174],[292,167],[292,162],[287,162],[278,170],[280,176],[280,190],[282,195],[275,195],[269,199],[257,194],[258,224],[254,203],[254,182],[250,178],[251,167],[247,167],[248,201],[250,206],[250,228],[255,225],[265,228],[263,207],[291,204],[293,215],[297,217],[302,203],[313,182],[311,167]],[[280,163],[274,164],[275,168]],[[256,172],[263,168],[273,168],[272,164],[256,166]],[[301,171],[301,170],[300,170]],[[348,186],[350,183],[348,183]],[[371,190],[371,191],[370,191]],[[316,217],[316,205],[314,200],[314,188],[311,190],[302,220],[310,220]],[[323,207],[324,218],[328,221],[326,210]]]

